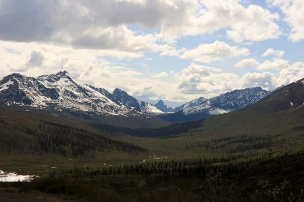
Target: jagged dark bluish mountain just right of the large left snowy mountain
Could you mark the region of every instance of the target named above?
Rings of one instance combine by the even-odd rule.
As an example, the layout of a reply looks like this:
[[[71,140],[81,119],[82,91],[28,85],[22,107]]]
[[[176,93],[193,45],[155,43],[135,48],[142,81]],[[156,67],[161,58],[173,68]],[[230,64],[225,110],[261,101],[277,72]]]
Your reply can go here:
[[[119,106],[124,106],[130,109],[134,109],[139,113],[143,113],[143,112],[163,113],[161,110],[157,109],[154,105],[143,101],[139,101],[136,98],[129,95],[127,92],[119,88],[115,88],[115,90],[111,94],[104,88],[96,88],[91,85],[89,87],[105,95],[107,98],[109,98]]]

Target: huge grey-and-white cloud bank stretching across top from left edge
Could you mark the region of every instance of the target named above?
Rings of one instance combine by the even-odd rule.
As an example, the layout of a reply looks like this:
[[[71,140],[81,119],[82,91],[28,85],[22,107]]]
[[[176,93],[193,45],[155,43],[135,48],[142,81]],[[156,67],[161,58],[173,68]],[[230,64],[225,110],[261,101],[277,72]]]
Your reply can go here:
[[[1,0],[0,40],[177,55],[174,42],[221,29],[234,41],[278,38],[277,13],[239,0]],[[158,33],[143,34],[139,25]]]

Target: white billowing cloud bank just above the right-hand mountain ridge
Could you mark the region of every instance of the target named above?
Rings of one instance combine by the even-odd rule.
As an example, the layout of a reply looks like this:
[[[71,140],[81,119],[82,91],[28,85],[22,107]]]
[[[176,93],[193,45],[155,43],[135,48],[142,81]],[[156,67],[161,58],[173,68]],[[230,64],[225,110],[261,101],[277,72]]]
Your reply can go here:
[[[178,89],[183,94],[207,98],[235,89],[262,87],[272,91],[304,78],[304,62],[296,62],[281,69],[277,77],[272,72],[248,72],[242,76],[231,73],[211,73],[204,65],[192,63],[176,74]]]

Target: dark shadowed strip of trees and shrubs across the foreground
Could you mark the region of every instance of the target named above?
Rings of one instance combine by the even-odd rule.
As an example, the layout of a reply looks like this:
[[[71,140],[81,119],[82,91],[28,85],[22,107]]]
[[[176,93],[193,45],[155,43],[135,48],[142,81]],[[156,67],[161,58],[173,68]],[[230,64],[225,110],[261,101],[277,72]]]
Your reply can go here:
[[[91,169],[52,169],[0,192],[47,193],[94,202],[303,202],[304,154],[267,160],[192,159]],[[1,196],[1,195],[0,195]]]

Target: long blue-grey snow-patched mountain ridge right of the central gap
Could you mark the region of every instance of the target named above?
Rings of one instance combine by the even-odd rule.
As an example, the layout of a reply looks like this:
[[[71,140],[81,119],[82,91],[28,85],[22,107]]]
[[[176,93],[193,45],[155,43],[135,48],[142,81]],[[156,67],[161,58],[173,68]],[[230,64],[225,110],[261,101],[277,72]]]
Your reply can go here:
[[[253,104],[269,93],[261,87],[255,87],[234,90],[211,99],[200,97],[181,106],[181,109],[173,114],[159,117],[169,122],[182,122],[224,114]]]

